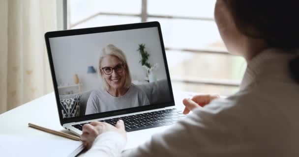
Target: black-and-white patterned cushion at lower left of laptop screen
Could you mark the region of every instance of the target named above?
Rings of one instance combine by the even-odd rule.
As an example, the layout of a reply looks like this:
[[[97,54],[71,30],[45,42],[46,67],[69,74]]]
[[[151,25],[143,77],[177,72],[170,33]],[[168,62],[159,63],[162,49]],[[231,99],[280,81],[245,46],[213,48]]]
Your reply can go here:
[[[74,95],[73,97],[65,98],[65,99],[60,98],[62,118],[71,118],[71,117],[79,116],[80,104],[81,104],[80,95]]]

